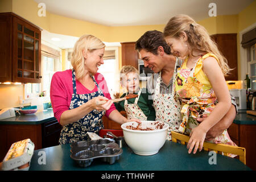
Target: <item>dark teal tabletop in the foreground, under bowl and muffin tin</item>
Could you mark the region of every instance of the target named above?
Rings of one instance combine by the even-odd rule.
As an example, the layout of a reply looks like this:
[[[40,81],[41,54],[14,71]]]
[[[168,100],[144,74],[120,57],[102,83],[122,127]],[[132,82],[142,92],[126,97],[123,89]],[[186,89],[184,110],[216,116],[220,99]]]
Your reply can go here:
[[[136,155],[125,146],[122,148],[121,158],[110,165],[100,158],[94,159],[88,167],[79,167],[70,157],[69,144],[54,146],[34,151],[30,163],[31,171],[175,171],[175,170],[251,170],[238,159],[216,155],[216,164],[209,164],[213,156],[207,151],[188,154],[187,147],[170,141],[166,141],[158,154],[150,156]],[[212,158],[211,158],[212,157]],[[43,163],[45,159],[45,164]]]

